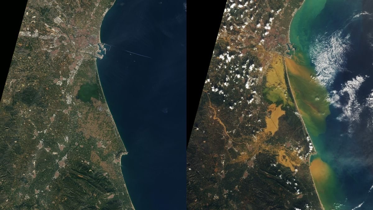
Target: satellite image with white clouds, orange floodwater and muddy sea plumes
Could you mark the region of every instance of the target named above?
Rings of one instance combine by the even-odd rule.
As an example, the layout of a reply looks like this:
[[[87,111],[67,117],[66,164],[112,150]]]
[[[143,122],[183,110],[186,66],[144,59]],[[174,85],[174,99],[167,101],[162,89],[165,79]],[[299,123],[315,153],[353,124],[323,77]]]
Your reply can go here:
[[[228,0],[187,209],[373,209],[373,1]]]

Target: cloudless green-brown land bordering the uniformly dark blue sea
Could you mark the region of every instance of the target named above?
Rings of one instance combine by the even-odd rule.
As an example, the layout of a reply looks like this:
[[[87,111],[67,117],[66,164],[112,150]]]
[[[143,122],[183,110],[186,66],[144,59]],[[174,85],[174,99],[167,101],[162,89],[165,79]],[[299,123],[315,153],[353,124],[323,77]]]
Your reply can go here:
[[[28,1],[0,102],[0,209],[134,209],[95,63],[113,3]]]

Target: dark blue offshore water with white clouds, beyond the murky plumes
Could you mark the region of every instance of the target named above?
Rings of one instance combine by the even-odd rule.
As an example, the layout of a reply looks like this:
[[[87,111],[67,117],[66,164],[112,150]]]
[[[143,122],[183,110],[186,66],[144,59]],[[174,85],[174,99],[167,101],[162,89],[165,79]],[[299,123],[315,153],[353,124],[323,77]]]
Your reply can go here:
[[[373,1],[327,0],[312,31],[309,56],[331,112],[316,150],[344,195],[334,208],[372,210]]]

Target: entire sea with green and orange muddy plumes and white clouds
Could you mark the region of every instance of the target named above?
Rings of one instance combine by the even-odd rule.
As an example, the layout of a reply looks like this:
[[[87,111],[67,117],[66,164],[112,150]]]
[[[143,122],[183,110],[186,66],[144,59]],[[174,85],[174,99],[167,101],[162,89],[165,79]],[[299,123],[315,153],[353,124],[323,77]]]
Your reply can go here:
[[[372,13],[368,0],[305,0],[290,28],[286,65],[325,209],[373,209]]]

